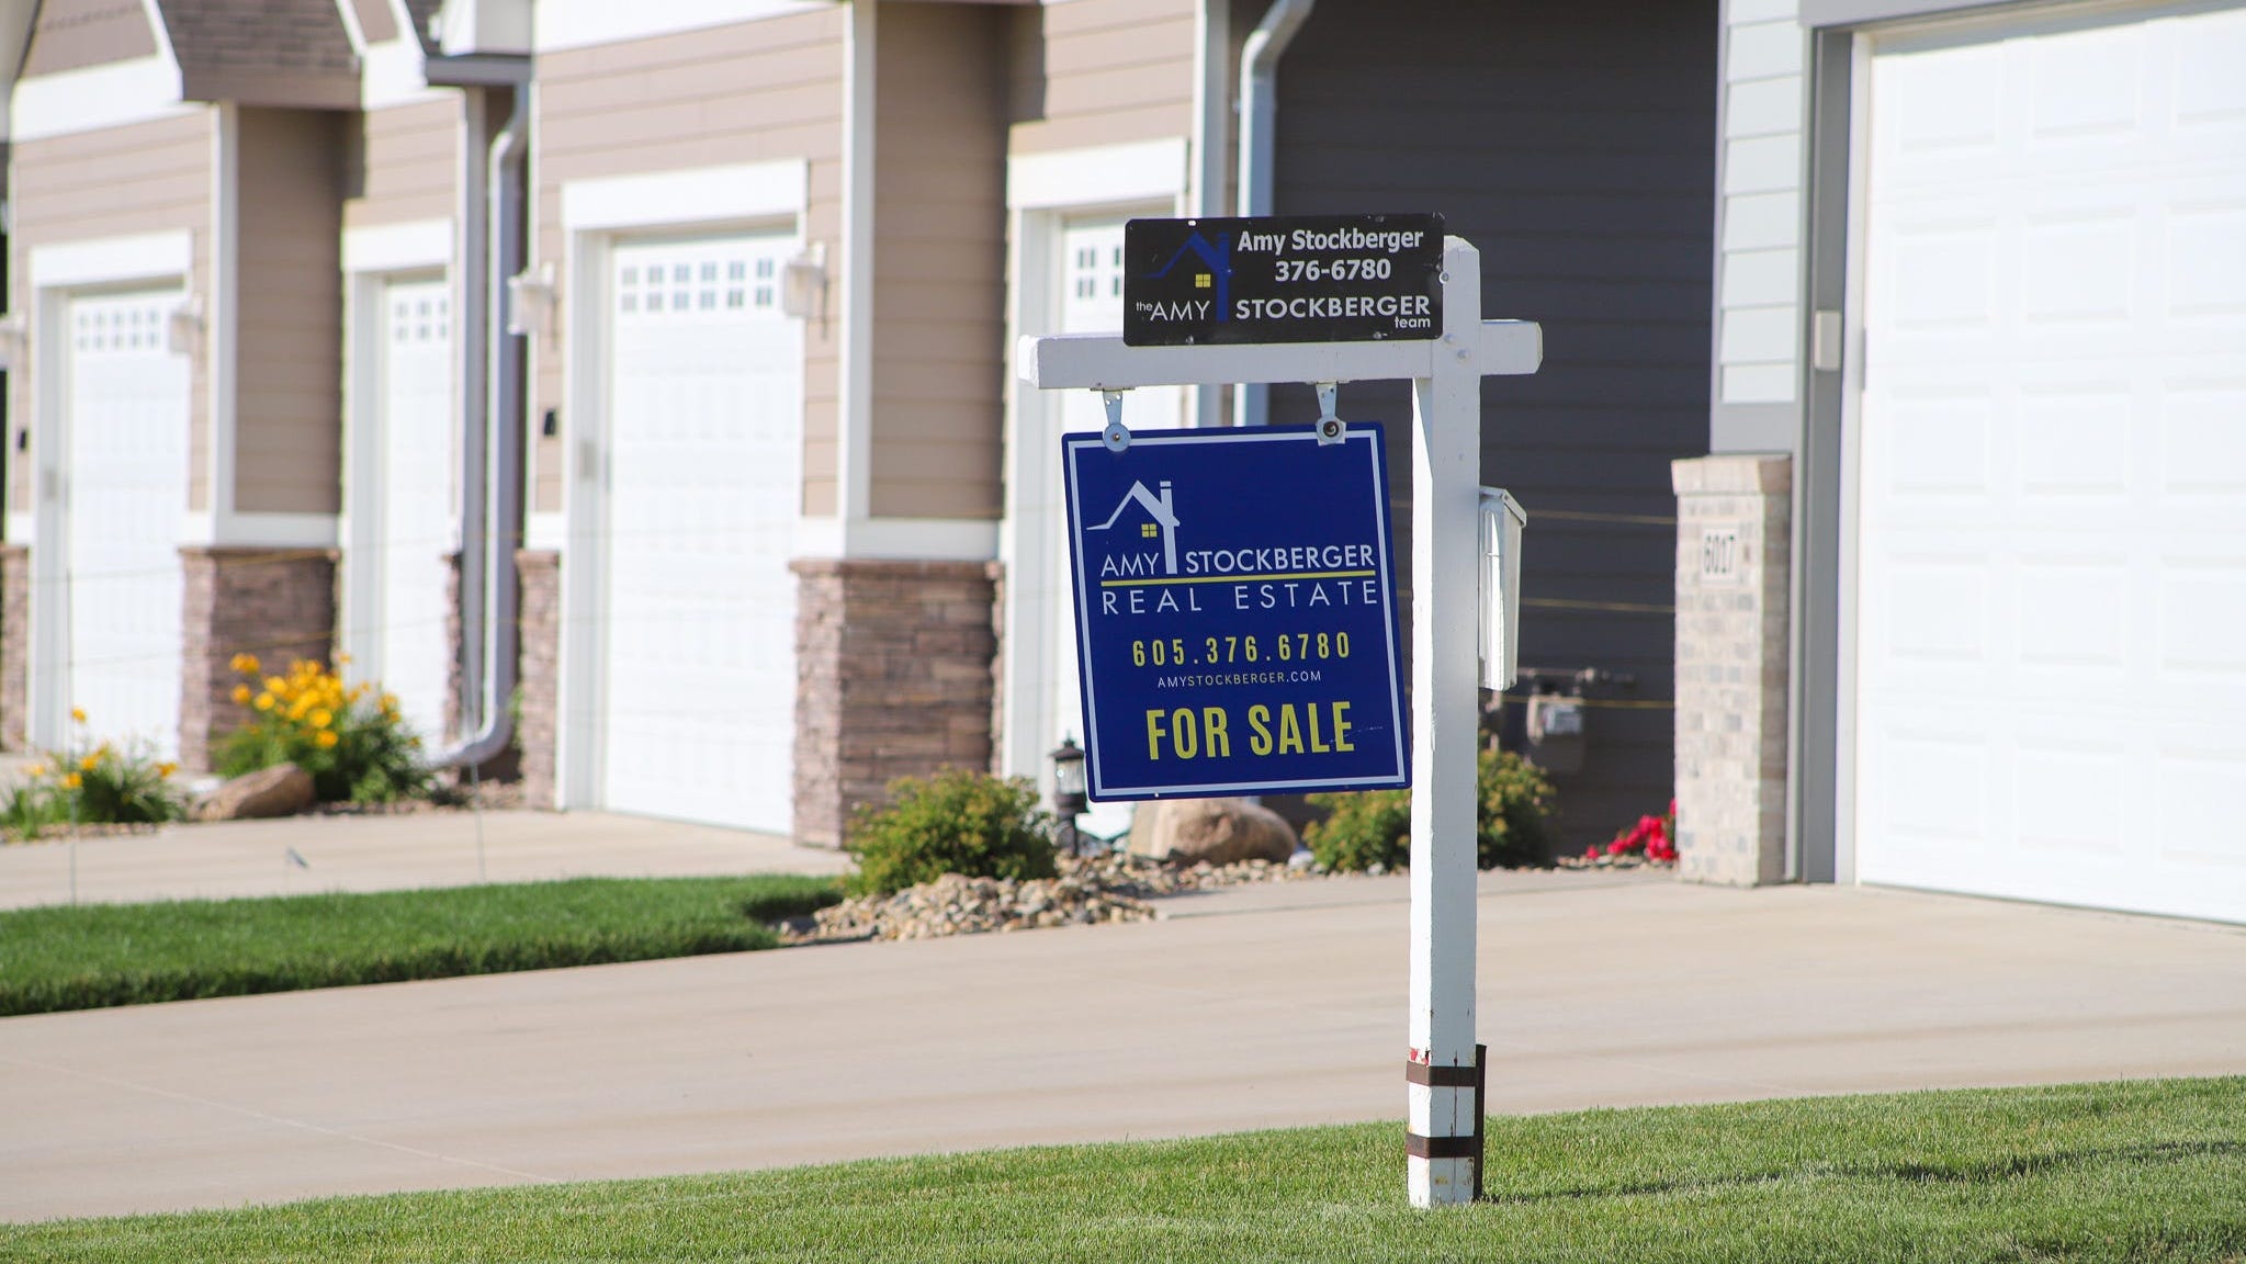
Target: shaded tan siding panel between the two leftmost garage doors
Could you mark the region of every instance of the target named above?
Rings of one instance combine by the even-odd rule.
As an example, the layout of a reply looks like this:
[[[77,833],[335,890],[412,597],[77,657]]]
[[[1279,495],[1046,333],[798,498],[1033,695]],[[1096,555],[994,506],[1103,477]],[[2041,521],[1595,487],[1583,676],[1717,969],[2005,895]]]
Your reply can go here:
[[[240,112],[234,507],[332,514],[341,494],[344,115]]]

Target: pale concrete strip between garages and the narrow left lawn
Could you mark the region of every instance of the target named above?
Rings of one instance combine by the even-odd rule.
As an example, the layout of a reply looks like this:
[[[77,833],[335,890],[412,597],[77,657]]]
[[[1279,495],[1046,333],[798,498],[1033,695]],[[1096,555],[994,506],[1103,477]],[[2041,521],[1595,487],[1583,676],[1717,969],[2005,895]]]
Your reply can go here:
[[[72,867],[81,903],[121,903],[586,876],[842,873],[849,860],[779,835],[609,813],[287,817],[164,826],[76,846],[0,846],[0,909],[70,903]]]

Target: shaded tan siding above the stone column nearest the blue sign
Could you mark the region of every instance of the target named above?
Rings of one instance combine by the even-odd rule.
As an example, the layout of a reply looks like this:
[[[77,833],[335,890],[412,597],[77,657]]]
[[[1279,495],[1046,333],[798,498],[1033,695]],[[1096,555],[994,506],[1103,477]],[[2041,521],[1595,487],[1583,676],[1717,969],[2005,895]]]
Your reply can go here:
[[[871,514],[999,514],[1006,13],[883,9],[874,106]]]

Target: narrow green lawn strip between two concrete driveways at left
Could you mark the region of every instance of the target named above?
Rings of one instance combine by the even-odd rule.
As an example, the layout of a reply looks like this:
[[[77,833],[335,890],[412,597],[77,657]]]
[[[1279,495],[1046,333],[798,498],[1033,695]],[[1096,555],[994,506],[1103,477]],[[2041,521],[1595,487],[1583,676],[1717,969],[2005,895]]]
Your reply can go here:
[[[775,947],[831,878],[577,878],[510,887],[79,905],[0,914],[0,1015]]]

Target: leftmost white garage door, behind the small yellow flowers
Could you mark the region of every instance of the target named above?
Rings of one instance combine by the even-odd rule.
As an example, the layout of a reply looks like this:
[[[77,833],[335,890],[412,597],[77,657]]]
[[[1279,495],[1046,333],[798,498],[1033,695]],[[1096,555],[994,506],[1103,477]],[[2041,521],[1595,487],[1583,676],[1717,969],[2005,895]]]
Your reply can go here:
[[[70,303],[67,700],[101,739],[180,748],[189,364],[177,292]]]

